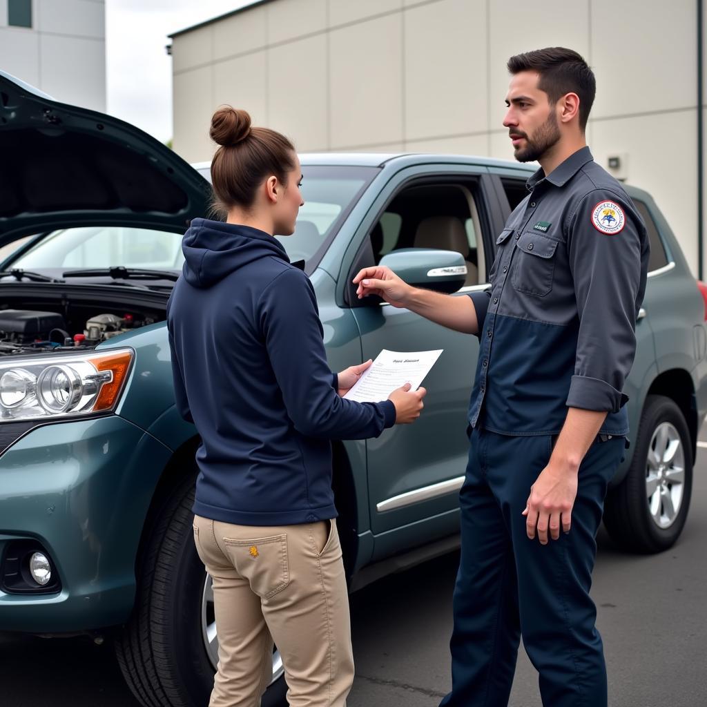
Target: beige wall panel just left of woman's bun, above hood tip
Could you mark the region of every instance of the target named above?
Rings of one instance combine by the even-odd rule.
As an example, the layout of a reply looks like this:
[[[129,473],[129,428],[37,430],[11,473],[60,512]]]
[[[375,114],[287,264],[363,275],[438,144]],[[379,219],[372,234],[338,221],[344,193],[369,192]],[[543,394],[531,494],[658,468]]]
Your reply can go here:
[[[211,160],[215,145],[209,137],[214,112],[211,66],[185,71],[174,77],[175,152],[187,162]]]

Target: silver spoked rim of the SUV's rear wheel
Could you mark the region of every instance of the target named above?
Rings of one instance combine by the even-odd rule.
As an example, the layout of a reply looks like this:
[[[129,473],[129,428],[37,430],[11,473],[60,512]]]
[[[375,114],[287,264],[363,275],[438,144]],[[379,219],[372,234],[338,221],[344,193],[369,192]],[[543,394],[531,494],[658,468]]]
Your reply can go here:
[[[645,465],[645,496],[648,513],[659,528],[670,527],[682,506],[685,486],[685,450],[670,422],[661,422],[653,432]]]

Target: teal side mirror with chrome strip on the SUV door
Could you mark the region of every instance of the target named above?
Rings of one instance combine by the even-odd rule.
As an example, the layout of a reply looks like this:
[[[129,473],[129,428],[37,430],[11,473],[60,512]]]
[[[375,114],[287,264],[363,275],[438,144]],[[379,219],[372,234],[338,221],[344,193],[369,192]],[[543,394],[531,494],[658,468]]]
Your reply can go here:
[[[401,248],[380,259],[401,280],[415,287],[452,293],[467,281],[467,264],[455,250]]]

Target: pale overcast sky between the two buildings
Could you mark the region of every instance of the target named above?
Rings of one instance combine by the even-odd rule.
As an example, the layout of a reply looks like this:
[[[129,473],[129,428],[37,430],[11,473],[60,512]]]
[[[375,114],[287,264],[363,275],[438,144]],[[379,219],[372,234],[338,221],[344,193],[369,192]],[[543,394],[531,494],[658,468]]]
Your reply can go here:
[[[106,0],[107,112],[163,142],[172,137],[168,35],[252,0]]]

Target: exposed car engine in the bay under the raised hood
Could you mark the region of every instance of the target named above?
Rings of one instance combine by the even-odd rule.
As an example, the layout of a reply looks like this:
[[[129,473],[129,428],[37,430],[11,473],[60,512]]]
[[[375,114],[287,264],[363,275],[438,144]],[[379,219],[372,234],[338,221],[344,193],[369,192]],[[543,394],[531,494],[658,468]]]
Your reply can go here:
[[[72,334],[56,312],[0,310],[0,356],[93,347],[156,321],[144,315],[100,314],[91,317],[82,332]]]

